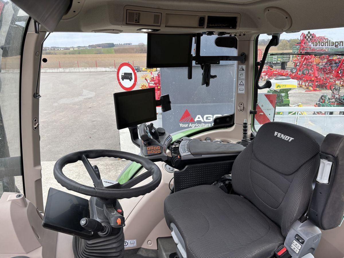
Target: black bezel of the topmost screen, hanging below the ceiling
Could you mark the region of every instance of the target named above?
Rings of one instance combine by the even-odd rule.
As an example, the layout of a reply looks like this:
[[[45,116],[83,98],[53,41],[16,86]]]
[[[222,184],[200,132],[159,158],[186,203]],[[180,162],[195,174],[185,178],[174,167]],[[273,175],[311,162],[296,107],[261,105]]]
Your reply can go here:
[[[152,36],[159,36],[159,35],[170,35],[170,36],[180,36],[180,35],[184,35],[184,36],[190,36],[190,42],[189,42],[189,55],[187,56],[187,61],[186,63],[163,63],[163,64],[152,64],[151,63],[151,42],[152,42]],[[147,35],[147,68],[171,68],[171,67],[189,67],[190,63],[191,63],[191,58],[192,58],[192,54],[191,54],[191,48],[192,48],[192,38],[193,38],[193,34],[161,34],[161,33],[148,33]]]

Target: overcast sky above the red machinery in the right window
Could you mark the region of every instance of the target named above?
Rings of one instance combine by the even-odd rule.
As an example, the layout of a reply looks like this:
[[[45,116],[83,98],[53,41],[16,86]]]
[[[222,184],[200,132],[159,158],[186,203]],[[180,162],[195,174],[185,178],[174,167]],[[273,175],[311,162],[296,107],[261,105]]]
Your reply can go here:
[[[321,29],[321,30],[309,30],[311,33],[314,33],[316,36],[326,36],[327,38],[333,41],[344,41],[344,28],[337,28],[337,29]],[[299,39],[301,33],[307,33],[307,31],[300,31],[295,33],[282,33],[280,36],[280,40],[283,39]],[[259,36],[259,39],[271,39],[271,36],[262,34]]]

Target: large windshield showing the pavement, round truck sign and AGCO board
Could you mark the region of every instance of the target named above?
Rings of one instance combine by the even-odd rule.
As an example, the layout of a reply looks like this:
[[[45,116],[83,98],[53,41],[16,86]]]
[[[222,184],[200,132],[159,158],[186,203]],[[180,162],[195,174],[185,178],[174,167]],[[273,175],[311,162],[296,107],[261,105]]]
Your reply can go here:
[[[234,48],[217,47],[217,36],[201,37],[201,55],[236,55]],[[178,51],[175,45],[171,51]],[[194,46],[192,47],[194,52]],[[43,185],[54,182],[52,169],[63,155],[86,149],[139,153],[129,130],[117,130],[114,93],[153,88],[155,99],[169,94],[172,110],[157,107],[154,127],[166,132],[211,128],[214,118],[234,114],[236,62],[212,65],[209,87],[201,86],[202,69],[147,68],[147,34],[51,33],[44,42],[40,82],[40,136]],[[130,68],[132,66],[132,68]],[[142,106],[144,108],[144,106]],[[116,180],[128,161],[103,158],[104,178]],[[80,180],[79,166],[66,167]],[[92,185],[92,181],[84,182]],[[49,182],[49,183],[48,183]],[[60,189],[56,183],[54,188]],[[47,187],[44,188],[46,196]],[[45,200],[45,197],[44,197]]]

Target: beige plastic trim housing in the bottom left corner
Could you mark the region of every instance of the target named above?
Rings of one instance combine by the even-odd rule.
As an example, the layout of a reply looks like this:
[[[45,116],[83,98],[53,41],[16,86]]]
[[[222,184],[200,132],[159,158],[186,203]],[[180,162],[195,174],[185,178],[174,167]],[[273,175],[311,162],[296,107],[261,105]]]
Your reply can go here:
[[[0,258],[55,257],[57,232],[42,227],[43,215],[23,194],[3,193],[0,210]]]

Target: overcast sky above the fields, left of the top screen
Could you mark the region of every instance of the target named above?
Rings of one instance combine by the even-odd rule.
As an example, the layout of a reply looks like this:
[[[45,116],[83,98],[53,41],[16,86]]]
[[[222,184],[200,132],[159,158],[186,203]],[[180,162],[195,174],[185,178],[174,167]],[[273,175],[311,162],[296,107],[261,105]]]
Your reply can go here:
[[[44,41],[45,47],[50,46],[88,46],[100,43],[147,43],[147,34],[144,33],[72,33],[53,32]]]

